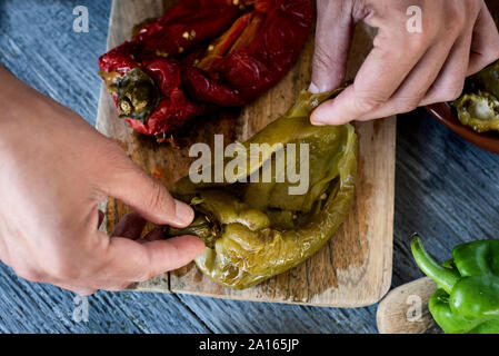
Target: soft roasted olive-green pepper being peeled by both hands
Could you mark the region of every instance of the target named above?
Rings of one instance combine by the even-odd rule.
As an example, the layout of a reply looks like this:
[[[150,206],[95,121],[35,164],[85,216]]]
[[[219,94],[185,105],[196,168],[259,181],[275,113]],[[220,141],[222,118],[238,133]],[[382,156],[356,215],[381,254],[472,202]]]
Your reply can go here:
[[[357,172],[357,136],[350,125],[316,127],[311,110],[331,93],[303,92],[281,118],[241,147],[268,144],[258,166],[248,159],[234,182],[193,184],[179,180],[172,194],[197,211],[187,229],[164,227],[166,236],[194,234],[207,243],[197,258],[199,269],[231,288],[247,288],[281,274],[313,255],[345,220],[353,197]],[[276,182],[275,144],[309,145],[309,189],[289,195],[288,180]],[[298,148],[297,148],[298,150]],[[271,162],[272,182],[239,182]]]

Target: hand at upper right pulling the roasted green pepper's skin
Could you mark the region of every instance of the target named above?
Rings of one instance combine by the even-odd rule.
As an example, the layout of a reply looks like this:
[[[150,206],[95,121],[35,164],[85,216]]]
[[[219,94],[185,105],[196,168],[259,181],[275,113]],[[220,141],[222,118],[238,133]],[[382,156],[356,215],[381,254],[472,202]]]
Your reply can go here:
[[[311,116],[316,125],[341,125],[408,112],[455,100],[465,78],[499,58],[499,34],[482,0],[318,0],[310,91],[345,79],[352,28],[378,28],[375,48],[355,79]],[[407,30],[407,9],[422,10],[422,32]]]

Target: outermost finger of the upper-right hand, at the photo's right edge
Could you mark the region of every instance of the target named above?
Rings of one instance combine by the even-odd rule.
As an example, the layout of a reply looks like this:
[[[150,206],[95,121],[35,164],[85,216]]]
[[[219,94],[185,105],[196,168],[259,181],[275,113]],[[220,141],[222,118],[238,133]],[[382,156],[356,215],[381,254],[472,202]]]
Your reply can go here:
[[[467,75],[473,75],[499,58],[499,33],[483,3],[473,29],[471,57]]]

